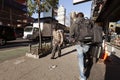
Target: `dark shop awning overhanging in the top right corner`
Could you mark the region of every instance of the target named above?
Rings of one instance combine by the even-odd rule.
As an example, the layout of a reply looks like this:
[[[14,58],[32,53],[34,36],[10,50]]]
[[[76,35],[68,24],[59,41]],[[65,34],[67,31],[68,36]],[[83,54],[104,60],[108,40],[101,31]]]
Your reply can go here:
[[[96,22],[116,22],[120,20],[120,0],[107,0]]]

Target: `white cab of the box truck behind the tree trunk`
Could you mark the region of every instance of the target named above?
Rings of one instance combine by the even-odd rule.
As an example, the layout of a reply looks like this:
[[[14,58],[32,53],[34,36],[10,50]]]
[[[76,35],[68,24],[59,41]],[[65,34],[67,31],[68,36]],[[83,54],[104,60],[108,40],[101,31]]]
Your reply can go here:
[[[43,29],[43,23],[40,23],[41,30]],[[33,26],[26,26],[24,28],[23,39],[38,40],[39,39],[39,25],[33,23]]]

